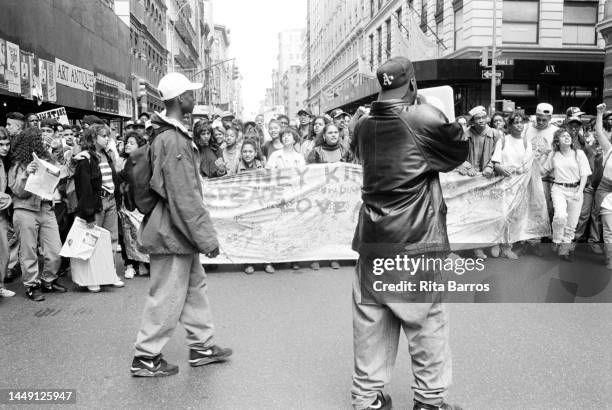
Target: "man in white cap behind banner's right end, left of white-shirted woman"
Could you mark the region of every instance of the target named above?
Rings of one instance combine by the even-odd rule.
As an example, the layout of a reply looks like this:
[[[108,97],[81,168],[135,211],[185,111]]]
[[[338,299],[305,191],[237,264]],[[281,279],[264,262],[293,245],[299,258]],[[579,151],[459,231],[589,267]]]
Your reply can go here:
[[[553,115],[553,106],[548,103],[540,103],[536,107],[536,120],[535,124],[530,123],[525,129],[525,139],[531,142],[531,148],[535,157],[535,166],[540,166],[546,162],[548,153],[552,151],[553,135],[557,131],[558,127],[551,124]],[[542,177],[542,187],[544,188],[544,197],[546,198],[546,207],[548,209],[548,216],[552,221],[553,217],[553,205],[551,197],[551,188],[553,183],[553,177],[545,175]],[[527,244],[530,247],[530,251],[536,256],[542,256],[543,252],[538,245],[538,241],[529,240]]]

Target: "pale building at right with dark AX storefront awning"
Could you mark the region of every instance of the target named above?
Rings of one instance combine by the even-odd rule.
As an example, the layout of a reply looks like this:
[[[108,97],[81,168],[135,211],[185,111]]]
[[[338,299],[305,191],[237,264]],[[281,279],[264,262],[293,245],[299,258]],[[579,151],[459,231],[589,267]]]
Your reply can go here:
[[[387,58],[409,57],[420,88],[452,85],[455,112],[491,100],[483,48],[493,45],[497,108],[503,100],[532,113],[592,112],[602,99],[604,42],[595,26],[604,0],[309,0],[309,97],[314,111],[354,110],[378,90],[374,73]],[[353,24],[351,24],[353,22]]]

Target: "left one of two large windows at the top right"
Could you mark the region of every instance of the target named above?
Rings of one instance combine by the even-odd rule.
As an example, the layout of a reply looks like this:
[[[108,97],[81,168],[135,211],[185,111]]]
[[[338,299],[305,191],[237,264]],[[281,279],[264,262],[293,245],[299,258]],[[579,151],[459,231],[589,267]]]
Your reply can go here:
[[[504,0],[504,43],[538,43],[540,2],[537,0]]]

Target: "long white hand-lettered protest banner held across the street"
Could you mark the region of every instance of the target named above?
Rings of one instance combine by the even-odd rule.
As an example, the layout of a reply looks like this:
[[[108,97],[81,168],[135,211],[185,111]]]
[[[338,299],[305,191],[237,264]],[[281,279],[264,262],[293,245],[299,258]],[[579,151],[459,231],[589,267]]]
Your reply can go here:
[[[540,177],[441,174],[454,249],[550,234]],[[221,255],[206,263],[356,259],[362,170],[353,164],[259,170],[203,182]]]

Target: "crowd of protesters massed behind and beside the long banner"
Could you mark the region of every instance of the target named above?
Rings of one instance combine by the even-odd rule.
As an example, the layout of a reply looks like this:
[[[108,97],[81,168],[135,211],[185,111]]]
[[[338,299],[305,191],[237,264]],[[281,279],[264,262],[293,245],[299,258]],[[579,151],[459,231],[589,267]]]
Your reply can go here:
[[[313,116],[303,109],[294,120],[285,115],[254,121],[232,113],[204,116],[193,124],[193,139],[200,156],[202,178],[219,178],[260,169],[300,168],[307,164],[357,162],[351,135],[367,108],[354,115],[341,109]],[[552,238],[520,244],[524,251],[542,254],[541,242],[551,242],[561,259],[573,260],[576,242],[588,242],[596,254],[606,255],[612,269],[612,111],[597,107],[588,121],[577,107],[566,110],[565,119],[553,124],[553,107],[537,106],[535,115],[515,113],[488,115],[484,107],[457,117],[469,141],[469,156],[457,172],[469,177],[509,177],[531,171],[541,174],[550,216]],[[86,115],[80,125],[39,121],[35,114],[11,112],[0,127],[0,296],[14,292],[4,287],[21,275],[26,295],[44,300],[46,292],[66,292],[58,278],[69,276],[70,261],[59,253],[75,217],[88,227],[108,230],[113,250],[120,252],[124,277],[147,275],[148,264],[129,259],[125,251],[127,232],[122,211],[133,209],[125,195],[125,163],[130,153],[147,144],[151,136],[148,115],[128,121],[117,133],[104,120]],[[53,200],[26,191],[28,175],[36,171],[33,153],[61,169]],[[602,238],[606,245],[602,248]],[[516,259],[519,245],[487,244],[475,249],[478,258]],[[42,258],[41,258],[42,257]],[[42,259],[42,263],[39,260]],[[263,270],[274,273],[273,261]],[[337,261],[329,261],[334,269]],[[310,268],[320,269],[314,261]],[[291,263],[299,269],[297,262]],[[245,273],[255,271],[253,265]],[[115,287],[123,287],[118,281]],[[89,286],[99,292],[100,286]]]

